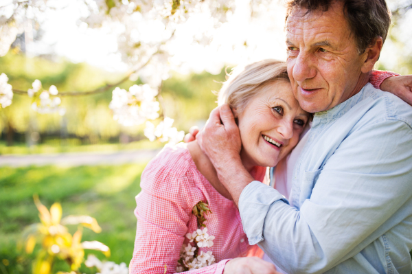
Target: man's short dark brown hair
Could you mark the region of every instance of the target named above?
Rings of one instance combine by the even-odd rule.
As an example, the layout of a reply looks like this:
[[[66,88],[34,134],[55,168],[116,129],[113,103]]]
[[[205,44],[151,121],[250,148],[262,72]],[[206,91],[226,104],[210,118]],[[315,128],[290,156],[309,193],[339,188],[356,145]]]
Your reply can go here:
[[[336,2],[343,3],[343,12],[360,54],[379,36],[385,42],[391,25],[391,11],[385,0],[290,0],[287,2],[286,19],[293,8],[304,8],[308,13],[315,10],[325,12]]]

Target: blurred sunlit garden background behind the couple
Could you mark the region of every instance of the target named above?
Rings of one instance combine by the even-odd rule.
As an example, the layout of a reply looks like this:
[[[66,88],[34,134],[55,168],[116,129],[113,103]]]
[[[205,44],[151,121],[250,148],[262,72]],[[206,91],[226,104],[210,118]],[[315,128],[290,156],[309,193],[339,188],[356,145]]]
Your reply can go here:
[[[387,3],[393,24],[376,69],[410,74],[412,1]],[[34,194],[47,208],[61,203],[62,216],[96,218],[102,232],[84,229],[83,240],[103,242],[105,260],[128,265],[141,172],[164,146],[145,136],[146,120],[171,117],[185,133],[203,126],[226,71],[286,60],[284,14],[284,1],[1,0],[0,74],[14,94],[0,108],[0,274],[36,272],[41,244],[27,254],[23,238],[39,222]],[[27,94],[35,80],[56,86],[60,109],[32,107],[43,100]],[[112,91],[135,84],[159,93],[158,117],[116,118]],[[131,105],[140,103],[120,109]],[[56,260],[49,273],[58,271],[70,267]],[[84,264],[80,272],[95,273]]]

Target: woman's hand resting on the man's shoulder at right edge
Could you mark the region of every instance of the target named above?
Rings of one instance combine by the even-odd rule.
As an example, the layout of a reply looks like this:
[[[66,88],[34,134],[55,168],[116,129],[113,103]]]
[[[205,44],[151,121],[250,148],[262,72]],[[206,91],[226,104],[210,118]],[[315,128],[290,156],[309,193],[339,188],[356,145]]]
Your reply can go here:
[[[412,75],[392,76],[380,84],[382,91],[389,91],[412,106]]]

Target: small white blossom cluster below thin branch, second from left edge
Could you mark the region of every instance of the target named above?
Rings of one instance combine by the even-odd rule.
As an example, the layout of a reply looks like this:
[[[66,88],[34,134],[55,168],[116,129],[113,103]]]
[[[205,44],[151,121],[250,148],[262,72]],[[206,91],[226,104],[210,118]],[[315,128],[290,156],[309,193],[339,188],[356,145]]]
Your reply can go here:
[[[65,115],[66,110],[60,106],[62,100],[57,96],[58,90],[56,86],[50,86],[49,90],[43,89],[40,80],[34,80],[33,89],[28,89],[27,94],[30,98],[34,98],[32,109],[38,113],[56,113]]]

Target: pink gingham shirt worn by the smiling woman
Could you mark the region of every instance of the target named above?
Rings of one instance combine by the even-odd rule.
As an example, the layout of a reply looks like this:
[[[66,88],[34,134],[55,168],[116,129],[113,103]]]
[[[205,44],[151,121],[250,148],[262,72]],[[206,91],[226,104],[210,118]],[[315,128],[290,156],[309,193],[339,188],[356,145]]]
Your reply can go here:
[[[391,71],[372,71],[369,82],[379,88],[383,80],[398,75]],[[255,179],[261,181],[264,168],[255,173]],[[189,242],[185,234],[197,229],[192,208],[199,201],[209,203],[211,214],[207,215],[207,232],[216,237],[213,247],[201,251],[212,251],[216,264],[186,273],[221,274],[231,258],[262,258],[263,251],[248,244],[236,206],[220,195],[198,171],[185,144],[178,144],[164,148],[141,175],[130,274],[163,274],[165,265],[166,273],[175,273],[181,247]]]

